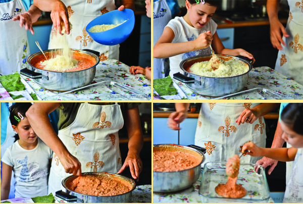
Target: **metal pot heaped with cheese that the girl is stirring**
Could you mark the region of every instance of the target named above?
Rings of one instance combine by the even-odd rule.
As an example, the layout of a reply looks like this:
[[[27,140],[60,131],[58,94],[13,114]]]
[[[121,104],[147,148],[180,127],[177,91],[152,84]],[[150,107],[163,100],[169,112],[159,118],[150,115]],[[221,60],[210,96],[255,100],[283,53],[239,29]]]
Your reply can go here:
[[[174,79],[183,82],[186,86],[191,89],[193,92],[211,97],[225,96],[228,94],[236,93],[241,91],[248,80],[248,73],[252,69],[251,63],[245,59],[240,58],[241,56],[231,56],[231,55],[222,55],[218,56],[227,61],[230,59],[237,59],[248,65],[249,69],[246,73],[234,77],[224,77],[224,78],[214,78],[214,77],[203,77],[199,75],[192,74],[189,69],[192,64],[201,61],[209,61],[212,55],[198,55],[184,59],[180,63],[181,70],[183,74],[176,73],[174,74]]]

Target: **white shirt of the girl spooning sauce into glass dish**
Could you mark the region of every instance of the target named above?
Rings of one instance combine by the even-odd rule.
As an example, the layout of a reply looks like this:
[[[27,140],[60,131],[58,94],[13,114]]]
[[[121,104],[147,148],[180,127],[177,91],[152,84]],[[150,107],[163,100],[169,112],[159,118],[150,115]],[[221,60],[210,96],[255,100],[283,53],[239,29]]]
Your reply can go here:
[[[302,202],[303,201],[303,148],[298,148],[293,161],[293,168],[289,181],[286,185],[283,202]]]

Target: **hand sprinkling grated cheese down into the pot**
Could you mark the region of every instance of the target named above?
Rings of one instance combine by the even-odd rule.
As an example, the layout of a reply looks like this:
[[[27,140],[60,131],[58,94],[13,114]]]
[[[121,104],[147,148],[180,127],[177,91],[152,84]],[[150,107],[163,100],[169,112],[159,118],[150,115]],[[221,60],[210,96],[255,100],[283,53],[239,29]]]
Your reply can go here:
[[[63,33],[61,33],[62,31],[61,22],[64,23],[66,34],[70,33],[70,26],[68,22],[68,11],[66,6],[61,1],[57,2],[56,6],[53,7],[51,12],[51,18],[55,29],[60,33],[60,35],[63,35]]]

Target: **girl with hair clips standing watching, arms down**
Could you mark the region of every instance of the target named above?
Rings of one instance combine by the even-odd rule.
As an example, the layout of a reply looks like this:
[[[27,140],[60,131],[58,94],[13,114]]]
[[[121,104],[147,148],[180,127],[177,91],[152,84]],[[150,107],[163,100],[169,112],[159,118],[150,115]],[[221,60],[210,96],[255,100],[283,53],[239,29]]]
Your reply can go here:
[[[19,136],[2,157],[1,200],[8,199],[12,171],[14,171],[15,198],[47,195],[47,180],[52,150],[31,128],[26,111],[31,103],[15,103],[10,110],[10,121]]]

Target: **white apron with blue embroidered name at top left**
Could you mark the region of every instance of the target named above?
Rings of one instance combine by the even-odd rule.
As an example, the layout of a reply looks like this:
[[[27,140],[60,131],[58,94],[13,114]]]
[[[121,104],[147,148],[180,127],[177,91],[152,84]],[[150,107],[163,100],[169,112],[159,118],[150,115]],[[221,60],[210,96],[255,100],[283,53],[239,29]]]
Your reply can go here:
[[[12,19],[25,12],[21,0],[0,4],[0,74],[10,75],[27,67],[30,54],[27,31]]]

